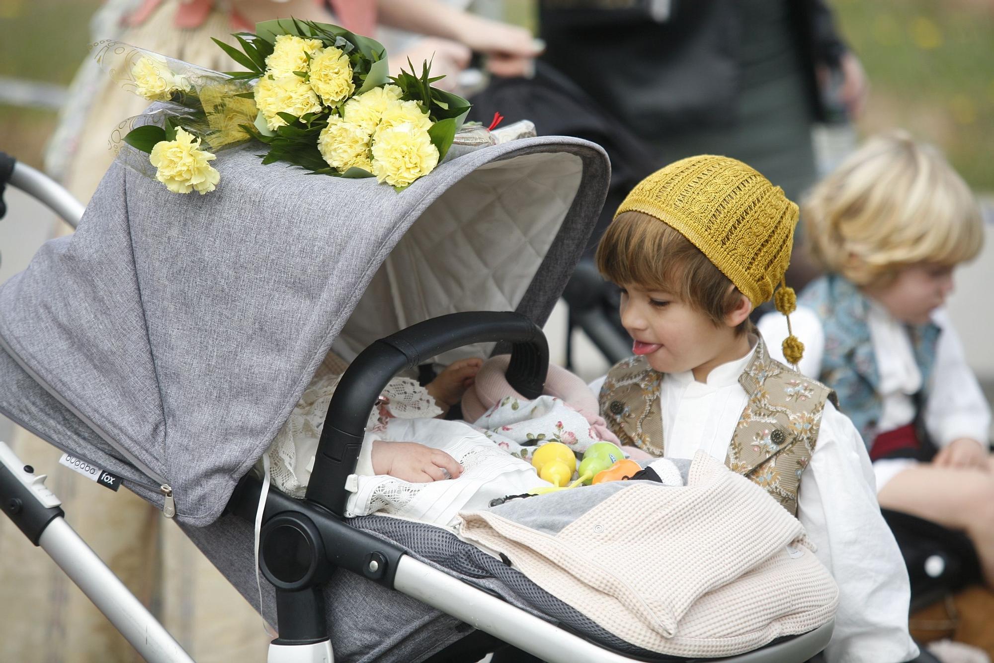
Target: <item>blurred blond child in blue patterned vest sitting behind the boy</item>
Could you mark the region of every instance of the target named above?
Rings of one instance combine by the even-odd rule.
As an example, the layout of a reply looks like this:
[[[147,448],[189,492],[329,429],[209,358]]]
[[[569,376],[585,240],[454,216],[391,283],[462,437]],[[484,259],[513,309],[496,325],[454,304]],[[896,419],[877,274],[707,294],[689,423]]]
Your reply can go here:
[[[827,275],[792,319],[808,343],[800,369],[860,429],[881,505],[964,530],[994,582],[990,408],[942,309],[983,243],[976,201],[938,151],[894,131],[818,184],[803,217]],[[759,328],[785,331],[772,317]],[[926,438],[939,449],[928,464]]]

